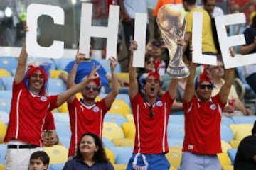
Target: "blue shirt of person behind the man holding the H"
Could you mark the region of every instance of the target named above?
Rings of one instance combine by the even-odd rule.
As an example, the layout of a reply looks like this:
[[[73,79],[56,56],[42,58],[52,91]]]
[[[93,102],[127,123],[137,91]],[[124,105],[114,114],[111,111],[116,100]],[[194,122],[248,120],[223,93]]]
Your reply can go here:
[[[75,61],[69,62],[68,65],[65,67],[64,70],[66,72],[68,72],[68,74],[70,74],[74,63],[75,63]],[[75,84],[79,84],[83,78],[85,78],[88,74],[90,74],[90,72],[92,72],[93,65],[95,65],[95,68],[96,68],[98,65],[100,65],[100,63],[97,62],[97,60],[91,59],[89,61],[80,62],[78,64],[77,74],[75,76]],[[106,77],[107,72],[105,71],[105,69],[103,67],[100,67],[100,69],[98,69],[97,72],[100,75],[100,80],[102,82],[102,86],[110,87],[109,82]]]

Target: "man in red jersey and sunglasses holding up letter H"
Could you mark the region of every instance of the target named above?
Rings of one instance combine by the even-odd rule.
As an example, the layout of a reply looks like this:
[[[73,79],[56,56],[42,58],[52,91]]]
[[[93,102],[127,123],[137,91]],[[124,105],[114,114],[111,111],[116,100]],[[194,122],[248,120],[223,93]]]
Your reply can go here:
[[[68,77],[68,89],[74,86],[75,74],[79,73],[77,70],[78,65],[82,60],[84,60],[84,58],[85,55],[78,52],[78,54],[75,57],[75,63]],[[95,98],[100,93],[101,88],[100,78],[97,78],[93,79],[92,81],[88,81],[88,83],[85,84],[85,89],[82,89],[82,91],[80,91],[83,98],[78,100],[78,98],[76,98],[75,95],[73,95],[68,99],[68,112],[70,115],[70,128],[72,133],[70,148],[68,152],[69,157],[75,156],[75,149],[78,145],[77,142],[83,133],[93,132],[100,138],[102,137],[104,116],[110,109],[115,97],[118,94],[117,75],[114,73],[114,68],[116,66],[117,60],[114,57],[110,58],[110,69],[112,74],[112,91],[110,91],[110,93],[107,94],[105,98],[103,98],[99,102],[95,102]],[[91,74],[93,74],[93,72],[91,72],[84,79],[89,79]]]

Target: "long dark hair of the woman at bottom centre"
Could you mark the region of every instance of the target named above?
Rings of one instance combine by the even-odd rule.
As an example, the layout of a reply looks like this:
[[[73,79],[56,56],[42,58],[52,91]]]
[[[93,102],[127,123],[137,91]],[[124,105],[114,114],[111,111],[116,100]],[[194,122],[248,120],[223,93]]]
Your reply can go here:
[[[109,159],[107,159],[107,154],[105,152],[105,149],[103,148],[102,140],[100,139],[100,137],[98,137],[96,134],[91,133],[91,132],[86,132],[82,135],[82,137],[85,137],[85,136],[92,137],[94,139],[95,145],[98,147],[97,151],[93,155],[93,160],[95,162],[108,162]],[[78,149],[77,149],[76,156],[75,156],[78,158],[82,158],[82,154],[79,149],[82,137],[80,138],[80,142],[78,143]]]

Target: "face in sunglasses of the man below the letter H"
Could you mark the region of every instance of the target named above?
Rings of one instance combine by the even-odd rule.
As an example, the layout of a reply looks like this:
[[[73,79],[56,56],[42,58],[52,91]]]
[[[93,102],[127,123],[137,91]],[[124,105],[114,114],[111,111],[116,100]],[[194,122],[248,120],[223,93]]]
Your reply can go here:
[[[95,84],[94,81],[90,81],[85,89],[82,90],[82,96],[85,100],[95,100],[97,95],[99,94],[98,91],[99,87]]]

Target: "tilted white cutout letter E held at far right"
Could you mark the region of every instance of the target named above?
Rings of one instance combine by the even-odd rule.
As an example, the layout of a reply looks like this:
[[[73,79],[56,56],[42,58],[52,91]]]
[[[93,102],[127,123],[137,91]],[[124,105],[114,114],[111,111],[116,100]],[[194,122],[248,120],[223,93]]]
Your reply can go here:
[[[220,50],[223,56],[223,63],[226,69],[240,67],[248,64],[256,64],[256,53],[250,55],[235,55],[230,57],[229,47],[245,44],[244,35],[233,35],[228,37],[225,26],[245,23],[244,13],[235,13],[215,18]]]

